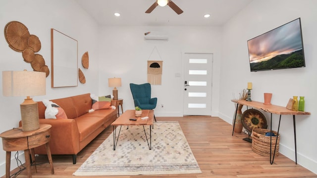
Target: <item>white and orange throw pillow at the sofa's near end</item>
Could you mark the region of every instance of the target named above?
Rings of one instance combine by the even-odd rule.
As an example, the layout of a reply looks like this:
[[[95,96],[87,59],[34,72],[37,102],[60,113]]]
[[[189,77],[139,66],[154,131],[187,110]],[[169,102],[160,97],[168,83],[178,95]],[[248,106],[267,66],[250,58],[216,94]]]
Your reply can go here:
[[[66,113],[56,103],[47,99],[43,100],[43,104],[46,106],[45,119],[67,119]]]

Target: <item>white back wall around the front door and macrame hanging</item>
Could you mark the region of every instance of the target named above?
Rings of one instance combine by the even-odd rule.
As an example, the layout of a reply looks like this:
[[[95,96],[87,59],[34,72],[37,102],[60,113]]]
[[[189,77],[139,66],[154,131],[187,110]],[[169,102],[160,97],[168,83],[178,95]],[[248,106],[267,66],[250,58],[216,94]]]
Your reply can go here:
[[[133,109],[129,84],[147,83],[147,61],[162,60],[162,85],[152,85],[152,96],[158,97],[155,115],[183,116],[184,79],[175,77],[177,73],[183,76],[182,56],[184,52],[213,53],[212,115],[218,115],[220,30],[219,27],[102,27],[99,93],[111,94],[107,78],[121,77],[118,97],[124,99],[124,110]],[[161,32],[169,39],[145,41],[144,33],[148,31]]]

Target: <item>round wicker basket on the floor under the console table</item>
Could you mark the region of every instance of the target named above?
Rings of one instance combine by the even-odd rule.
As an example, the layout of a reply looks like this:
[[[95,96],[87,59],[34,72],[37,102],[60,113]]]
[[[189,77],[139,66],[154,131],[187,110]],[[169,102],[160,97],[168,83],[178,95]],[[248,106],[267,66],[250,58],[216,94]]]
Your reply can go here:
[[[269,157],[270,156],[270,136],[265,136],[265,133],[269,133],[270,131],[267,129],[253,129],[252,131],[252,150],[262,156]],[[277,135],[277,132],[272,131],[275,135]],[[279,152],[279,139],[280,135],[278,136],[272,136],[272,147],[271,147],[271,155],[274,154],[274,147],[275,142],[277,138],[276,143],[276,151],[275,156],[278,156]]]

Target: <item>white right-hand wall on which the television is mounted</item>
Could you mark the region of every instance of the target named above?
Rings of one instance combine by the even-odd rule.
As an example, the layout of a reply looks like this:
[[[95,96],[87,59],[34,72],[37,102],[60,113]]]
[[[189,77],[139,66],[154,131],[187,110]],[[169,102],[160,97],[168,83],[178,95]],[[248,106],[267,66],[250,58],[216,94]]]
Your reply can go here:
[[[271,103],[286,106],[293,95],[305,96],[310,116],[296,116],[298,164],[317,173],[317,6],[316,0],[254,0],[232,18],[223,30],[219,116],[232,123],[232,93],[253,83],[252,99],[264,101],[263,93],[272,92]],[[247,41],[300,17],[305,50],[305,68],[250,72]],[[230,71],[230,72],[228,72]],[[268,113],[264,113],[270,120]],[[273,115],[272,130],[277,131],[278,115]],[[292,116],[282,116],[280,152],[295,160]],[[269,163],[268,163],[269,164]],[[295,164],[295,163],[294,163]]]

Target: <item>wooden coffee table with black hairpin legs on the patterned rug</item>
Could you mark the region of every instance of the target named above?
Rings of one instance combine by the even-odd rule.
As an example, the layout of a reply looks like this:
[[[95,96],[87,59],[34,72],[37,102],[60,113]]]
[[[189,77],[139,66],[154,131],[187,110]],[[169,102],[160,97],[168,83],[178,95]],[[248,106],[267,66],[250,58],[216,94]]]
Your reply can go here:
[[[142,117],[149,117],[148,119],[141,119]],[[131,121],[130,119],[137,119],[136,121]],[[126,110],[121,116],[119,116],[112,124],[113,126],[113,150],[117,146],[117,142],[119,139],[120,131],[122,126],[143,126],[144,134],[148,142],[148,146],[151,150],[151,127],[153,126],[154,121],[154,111],[153,110],[142,110],[142,115],[139,117],[135,116],[135,110]],[[120,130],[118,136],[116,137],[116,127],[120,126]],[[150,126],[150,143],[145,132],[144,126]]]

